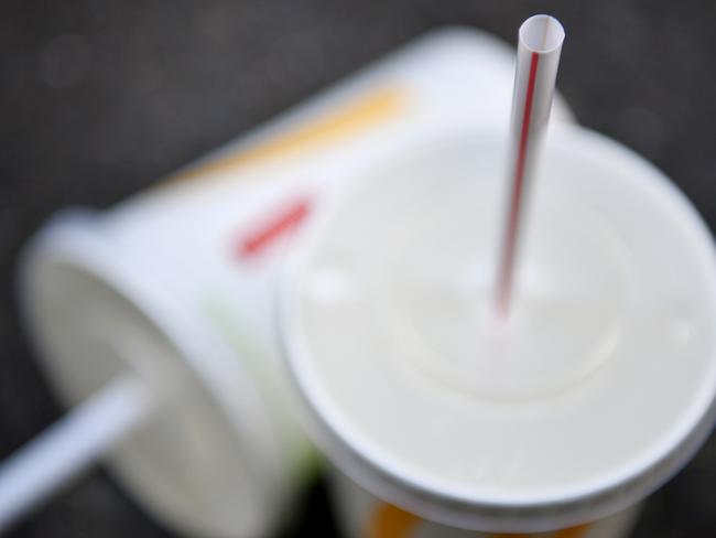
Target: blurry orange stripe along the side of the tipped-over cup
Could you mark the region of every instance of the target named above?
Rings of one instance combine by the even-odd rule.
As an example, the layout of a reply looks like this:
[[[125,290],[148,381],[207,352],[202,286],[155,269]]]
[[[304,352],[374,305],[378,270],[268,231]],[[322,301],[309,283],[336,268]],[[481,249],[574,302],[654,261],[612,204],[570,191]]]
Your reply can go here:
[[[294,130],[279,133],[236,153],[218,157],[204,165],[181,172],[170,181],[221,173],[243,164],[346,139],[395,117],[404,108],[405,95],[405,92],[395,87],[376,89],[344,104],[337,110],[324,112]]]

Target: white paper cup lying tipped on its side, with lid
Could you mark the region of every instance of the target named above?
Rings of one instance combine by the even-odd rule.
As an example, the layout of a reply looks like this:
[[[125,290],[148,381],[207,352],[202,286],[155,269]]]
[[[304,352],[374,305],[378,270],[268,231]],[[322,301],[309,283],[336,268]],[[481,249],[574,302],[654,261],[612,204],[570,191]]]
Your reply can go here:
[[[109,455],[184,535],[265,536],[314,469],[280,363],[272,292],[291,229],[327,184],[440,121],[509,112],[509,47],[431,32],[107,212],[66,211],[25,249],[21,303],[75,405],[123,373],[165,404]],[[571,112],[560,97],[555,112]],[[166,404],[169,401],[169,404]]]

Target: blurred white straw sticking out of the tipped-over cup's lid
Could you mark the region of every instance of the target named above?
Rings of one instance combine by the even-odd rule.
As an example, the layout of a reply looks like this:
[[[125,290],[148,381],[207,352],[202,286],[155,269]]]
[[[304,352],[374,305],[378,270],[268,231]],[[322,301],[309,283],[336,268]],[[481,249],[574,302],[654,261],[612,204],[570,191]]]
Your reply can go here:
[[[110,383],[0,466],[0,532],[87,469],[150,415],[137,378]]]

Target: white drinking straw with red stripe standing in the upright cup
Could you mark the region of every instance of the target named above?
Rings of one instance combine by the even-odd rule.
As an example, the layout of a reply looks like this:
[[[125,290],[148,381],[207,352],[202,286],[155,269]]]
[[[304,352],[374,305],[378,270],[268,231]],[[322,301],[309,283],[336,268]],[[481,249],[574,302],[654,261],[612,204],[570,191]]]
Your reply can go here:
[[[553,17],[530,17],[520,26],[510,121],[512,184],[495,287],[495,310],[502,320],[510,311],[525,197],[550,120],[563,41],[564,29]]]

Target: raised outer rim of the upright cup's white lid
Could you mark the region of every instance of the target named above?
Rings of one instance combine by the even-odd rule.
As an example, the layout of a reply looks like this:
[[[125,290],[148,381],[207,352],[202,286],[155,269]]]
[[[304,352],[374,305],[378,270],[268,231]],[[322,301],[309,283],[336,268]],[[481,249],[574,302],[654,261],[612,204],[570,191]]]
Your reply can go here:
[[[476,129],[457,129],[449,136],[445,132],[438,141],[464,137],[495,139]],[[704,250],[709,250],[709,263],[716,275],[716,250],[714,240],[706,225],[685,195],[655,166],[647,162],[628,148],[588,129],[560,125],[551,130],[549,138],[558,146],[571,149],[596,148],[605,157],[614,159],[616,166],[628,166],[630,172],[651,181],[653,189],[671,204],[671,211],[679,211],[690,220],[691,227],[699,236],[698,243]],[[435,142],[435,137],[427,141]],[[426,140],[419,140],[424,146]],[[398,150],[393,160],[403,154]],[[375,170],[375,165],[372,169]],[[370,170],[370,169],[369,169]],[[345,193],[344,193],[345,196]],[[335,204],[334,204],[335,205]],[[334,459],[344,472],[373,494],[395,502],[419,514],[441,523],[480,530],[539,530],[554,528],[555,525],[583,523],[617,512],[651,493],[671,475],[680,470],[696,452],[708,435],[716,420],[716,379],[712,379],[708,389],[702,390],[698,398],[691,402],[690,413],[685,413],[666,441],[652,448],[638,465],[614,473],[601,483],[589,484],[582,489],[568,489],[553,495],[525,498],[486,497],[484,495],[456,494],[436,487],[419,477],[410,476],[404,469],[397,469],[390,462],[368,450],[350,428],[340,424],[340,420],[329,407],[321,406],[308,374],[302,370],[301,356],[305,353],[296,343],[292,327],[295,325],[293,278],[301,263],[305,245],[316,240],[322,233],[330,212],[317,216],[312,225],[302,230],[293,247],[292,256],[285,263],[279,279],[276,294],[276,322],[283,356],[294,384],[308,409],[308,429],[315,441],[328,456]],[[686,408],[685,408],[686,409]],[[509,520],[509,527],[505,521]],[[555,523],[556,521],[556,523]]]

